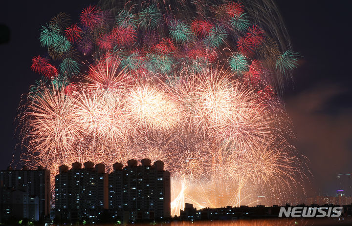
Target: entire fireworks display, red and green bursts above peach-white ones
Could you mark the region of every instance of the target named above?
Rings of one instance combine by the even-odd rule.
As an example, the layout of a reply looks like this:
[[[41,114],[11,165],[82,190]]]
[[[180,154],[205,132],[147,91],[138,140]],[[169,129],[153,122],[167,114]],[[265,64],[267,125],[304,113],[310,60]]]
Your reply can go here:
[[[257,24],[267,15],[250,2],[167,4],[91,5],[80,23],[61,13],[43,26],[51,59],[32,60],[44,78],[19,115],[23,161],[57,174],[77,161],[111,171],[162,160],[173,214],[185,197],[197,207],[289,197],[304,171],[277,91],[299,54],[272,32],[280,21]]]

